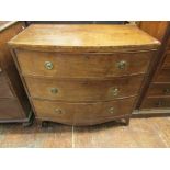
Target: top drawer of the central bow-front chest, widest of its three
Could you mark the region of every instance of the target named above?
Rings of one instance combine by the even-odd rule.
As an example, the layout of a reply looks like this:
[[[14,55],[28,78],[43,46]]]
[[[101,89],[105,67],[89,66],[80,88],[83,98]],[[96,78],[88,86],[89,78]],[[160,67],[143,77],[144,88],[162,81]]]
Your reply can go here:
[[[145,73],[155,52],[60,54],[16,50],[22,73],[56,78],[110,78]]]

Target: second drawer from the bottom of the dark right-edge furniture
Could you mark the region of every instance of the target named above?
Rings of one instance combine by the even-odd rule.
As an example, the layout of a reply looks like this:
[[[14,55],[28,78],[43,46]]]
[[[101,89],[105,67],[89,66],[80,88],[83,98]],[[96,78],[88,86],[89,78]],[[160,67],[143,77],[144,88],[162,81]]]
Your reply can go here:
[[[170,95],[170,83],[151,83],[147,95]]]

